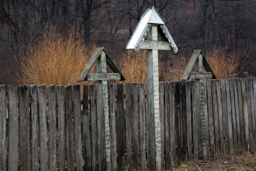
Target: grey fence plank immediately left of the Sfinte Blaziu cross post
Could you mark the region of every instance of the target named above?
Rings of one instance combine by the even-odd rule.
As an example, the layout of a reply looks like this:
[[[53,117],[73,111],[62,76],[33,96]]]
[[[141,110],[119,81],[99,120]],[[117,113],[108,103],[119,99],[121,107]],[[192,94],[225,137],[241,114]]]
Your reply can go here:
[[[90,114],[91,114],[91,153],[92,153],[92,171],[98,170],[97,163],[97,123],[96,123],[96,85],[89,85],[90,93]]]

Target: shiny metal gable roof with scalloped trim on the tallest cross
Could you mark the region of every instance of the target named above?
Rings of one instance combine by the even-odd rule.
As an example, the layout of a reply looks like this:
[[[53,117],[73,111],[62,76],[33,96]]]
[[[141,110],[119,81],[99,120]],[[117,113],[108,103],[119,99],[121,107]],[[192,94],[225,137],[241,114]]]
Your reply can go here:
[[[135,49],[136,51],[138,51],[139,46],[144,41],[148,30],[152,24],[159,25],[157,29],[158,33],[162,37],[163,41],[168,41],[170,43],[174,52],[176,53],[178,51],[178,48],[174,43],[172,36],[164,23],[164,20],[159,15],[154,6],[148,8],[148,10],[141,16],[141,19],[136,29],[134,30],[131,39],[126,45],[126,49]]]

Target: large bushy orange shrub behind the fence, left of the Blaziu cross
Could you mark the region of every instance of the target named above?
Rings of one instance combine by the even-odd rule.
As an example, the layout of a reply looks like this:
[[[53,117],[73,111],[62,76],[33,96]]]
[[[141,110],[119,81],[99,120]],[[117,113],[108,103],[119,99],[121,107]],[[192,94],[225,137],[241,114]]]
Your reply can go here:
[[[44,38],[24,56],[19,66],[19,81],[46,86],[78,84],[76,80],[95,48],[93,43],[85,46],[82,35],[74,27],[67,33],[59,33],[55,26],[50,26]]]

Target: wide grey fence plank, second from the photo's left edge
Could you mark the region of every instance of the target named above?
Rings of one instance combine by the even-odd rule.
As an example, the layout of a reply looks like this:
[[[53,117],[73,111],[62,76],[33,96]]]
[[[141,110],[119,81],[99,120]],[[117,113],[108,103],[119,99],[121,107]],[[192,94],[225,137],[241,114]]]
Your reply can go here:
[[[17,85],[7,85],[8,92],[8,171],[18,170],[18,103]],[[47,147],[47,146],[46,146]]]

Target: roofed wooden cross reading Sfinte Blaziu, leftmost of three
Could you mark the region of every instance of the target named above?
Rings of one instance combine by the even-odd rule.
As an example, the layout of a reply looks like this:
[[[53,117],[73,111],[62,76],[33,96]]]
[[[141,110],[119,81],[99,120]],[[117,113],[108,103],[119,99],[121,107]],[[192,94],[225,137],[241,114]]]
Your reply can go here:
[[[92,69],[95,62],[97,73],[90,74],[89,71]],[[107,64],[114,73],[107,73]],[[100,118],[100,170],[111,171],[107,80],[125,80],[125,78],[112,59],[108,56],[105,49],[97,48],[77,81],[97,81],[99,100],[97,103],[99,113],[97,113],[97,115]]]

